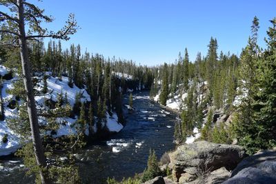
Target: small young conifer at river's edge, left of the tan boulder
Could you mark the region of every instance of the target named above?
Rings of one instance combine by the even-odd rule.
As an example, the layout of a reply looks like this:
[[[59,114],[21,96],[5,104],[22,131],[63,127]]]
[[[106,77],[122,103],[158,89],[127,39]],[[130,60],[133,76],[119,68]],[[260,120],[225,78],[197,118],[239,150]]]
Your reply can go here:
[[[149,181],[152,178],[155,178],[156,176],[159,176],[161,173],[158,161],[157,161],[157,156],[155,155],[155,150],[150,149],[150,154],[148,156],[148,166],[146,170],[143,172],[143,176],[141,178],[142,182]]]

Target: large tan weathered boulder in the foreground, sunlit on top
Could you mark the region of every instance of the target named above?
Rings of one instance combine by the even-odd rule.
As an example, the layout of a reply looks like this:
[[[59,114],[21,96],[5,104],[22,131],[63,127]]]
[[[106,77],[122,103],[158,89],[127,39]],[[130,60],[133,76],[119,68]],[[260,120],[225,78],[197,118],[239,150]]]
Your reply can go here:
[[[244,148],[237,145],[197,141],[180,145],[169,156],[173,180],[186,183],[221,167],[233,170],[246,154]]]

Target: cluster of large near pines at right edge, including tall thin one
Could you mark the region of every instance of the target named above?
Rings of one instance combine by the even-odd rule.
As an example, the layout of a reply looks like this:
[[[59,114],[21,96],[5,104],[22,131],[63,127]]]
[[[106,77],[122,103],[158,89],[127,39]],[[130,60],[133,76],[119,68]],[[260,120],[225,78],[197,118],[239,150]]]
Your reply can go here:
[[[237,138],[240,145],[246,147],[249,154],[257,150],[265,150],[276,145],[276,19],[270,21],[273,26],[268,28],[268,48],[259,55],[257,45],[258,20],[253,20],[252,39],[242,54],[244,61],[242,77],[243,88],[247,96],[242,99],[239,114]]]

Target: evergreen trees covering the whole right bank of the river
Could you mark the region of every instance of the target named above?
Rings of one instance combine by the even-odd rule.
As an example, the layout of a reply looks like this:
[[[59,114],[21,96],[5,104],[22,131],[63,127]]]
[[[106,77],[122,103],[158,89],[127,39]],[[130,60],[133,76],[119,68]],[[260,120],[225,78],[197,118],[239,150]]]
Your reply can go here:
[[[185,141],[197,127],[201,129],[201,139],[218,143],[237,139],[250,154],[276,145],[276,19],[270,22],[273,25],[267,31],[265,49],[257,45],[259,20],[255,17],[248,45],[240,56],[218,54],[217,39],[211,38],[206,57],[199,52],[191,62],[185,49],[184,56],[179,53],[175,63],[153,69],[155,80],[150,96],[159,94],[162,105],[168,99],[179,104],[181,123],[175,125],[175,139]],[[232,114],[232,124],[215,125],[216,110],[227,117]]]

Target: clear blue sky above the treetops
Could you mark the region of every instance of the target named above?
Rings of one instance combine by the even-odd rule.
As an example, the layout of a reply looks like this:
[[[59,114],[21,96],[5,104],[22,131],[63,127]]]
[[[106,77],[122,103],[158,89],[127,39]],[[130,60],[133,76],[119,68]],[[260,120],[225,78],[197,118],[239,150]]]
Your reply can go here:
[[[264,47],[269,20],[276,17],[275,0],[44,0],[37,5],[55,17],[48,24],[53,30],[75,13],[81,30],[63,48],[79,43],[83,50],[142,65],[174,62],[184,48],[193,61],[197,52],[206,54],[210,37],[217,38],[219,52],[239,54],[255,15]]]

